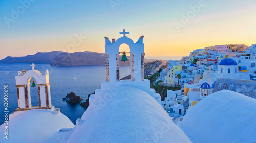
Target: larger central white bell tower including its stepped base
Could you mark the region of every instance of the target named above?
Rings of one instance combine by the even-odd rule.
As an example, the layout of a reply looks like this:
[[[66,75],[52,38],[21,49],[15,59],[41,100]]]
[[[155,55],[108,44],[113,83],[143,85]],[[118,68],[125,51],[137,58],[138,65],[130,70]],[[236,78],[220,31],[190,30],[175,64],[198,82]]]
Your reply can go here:
[[[115,89],[120,89],[125,86],[135,86],[146,91],[153,98],[155,98],[159,103],[161,101],[160,95],[154,89],[150,88],[150,81],[144,79],[144,44],[143,38],[141,36],[139,40],[134,43],[134,41],[128,37],[126,32],[120,32],[123,37],[112,40],[110,42],[109,38],[105,37],[105,65],[106,65],[106,81],[101,82],[101,89],[96,89],[95,95],[91,95],[89,98],[90,103],[93,102],[96,96],[106,90],[113,90],[112,96],[116,93]],[[131,79],[130,80],[120,80],[119,75],[119,47],[121,44],[127,44],[130,49],[130,65],[131,65]],[[125,88],[123,88],[125,90]]]

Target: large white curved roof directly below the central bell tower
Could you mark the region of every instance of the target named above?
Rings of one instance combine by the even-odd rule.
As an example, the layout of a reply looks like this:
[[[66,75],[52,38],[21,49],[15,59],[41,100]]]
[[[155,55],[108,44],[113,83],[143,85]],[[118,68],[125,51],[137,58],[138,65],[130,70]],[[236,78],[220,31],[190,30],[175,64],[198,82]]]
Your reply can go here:
[[[110,90],[117,93],[96,96],[68,142],[191,142],[147,92],[128,85]]]

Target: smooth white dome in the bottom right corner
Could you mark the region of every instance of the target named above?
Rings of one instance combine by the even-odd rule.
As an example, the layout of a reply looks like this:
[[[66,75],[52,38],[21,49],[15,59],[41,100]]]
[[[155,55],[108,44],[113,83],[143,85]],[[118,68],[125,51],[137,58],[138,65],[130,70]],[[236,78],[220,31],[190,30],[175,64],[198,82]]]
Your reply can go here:
[[[223,90],[193,106],[179,127],[192,142],[255,142],[256,99]]]

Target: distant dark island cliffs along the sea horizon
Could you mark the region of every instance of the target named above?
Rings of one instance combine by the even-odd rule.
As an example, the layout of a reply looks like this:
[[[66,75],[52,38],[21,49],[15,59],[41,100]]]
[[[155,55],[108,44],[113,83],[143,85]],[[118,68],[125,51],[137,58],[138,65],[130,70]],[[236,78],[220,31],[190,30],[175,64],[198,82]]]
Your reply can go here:
[[[120,59],[122,56],[120,56]],[[127,56],[128,59],[129,56]],[[155,60],[144,59],[145,63]],[[51,66],[82,66],[82,65],[105,65],[104,53],[97,52],[75,52],[67,53],[61,51],[37,52],[34,55],[24,57],[6,57],[0,63],[49,63]],[[130,60],[120,62],[121,66],[130,65]]]

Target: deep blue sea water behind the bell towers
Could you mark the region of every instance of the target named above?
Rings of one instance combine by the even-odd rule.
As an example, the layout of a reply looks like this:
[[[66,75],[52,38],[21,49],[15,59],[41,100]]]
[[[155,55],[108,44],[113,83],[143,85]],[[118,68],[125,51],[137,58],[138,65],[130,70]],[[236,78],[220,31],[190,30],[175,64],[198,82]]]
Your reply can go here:
[[[15,63],[0,64],[0,112],[4,113],[4,86],[8,85],[8,111],[9,114],[14,112],[18,107],[17,89],[15,87],[15,76],[18,71],[31,70],[31,64]],[[100,83],[106,80],[105,66],[66,66],[52,67],[49,64],[35,64],[35,70],[42,74],[49,70],[51,101],[55,108],[60,108],[60,112],[65,114],[75,123],[77,118],[81,118],[86,109],[80,106],[80,103],[71,104],[62,101],[68,93],[74,92],[77,96],[83,98],[84,102],[88,98],[88,94],[93,93],[96,89],[100,89]],[[121,66],[120,75],[129,75],[130,66]],[[76,79],[75,79],[76,77]],[[120,78],[122,78],[120,76]],[[35,81],[31,78],[31,81]],[[36,83],[36,82],[35,82]],[[39,106],[38,87],[30,87],[31,104]],[[4,116],[0,116],[0,125],[4,123]]]

